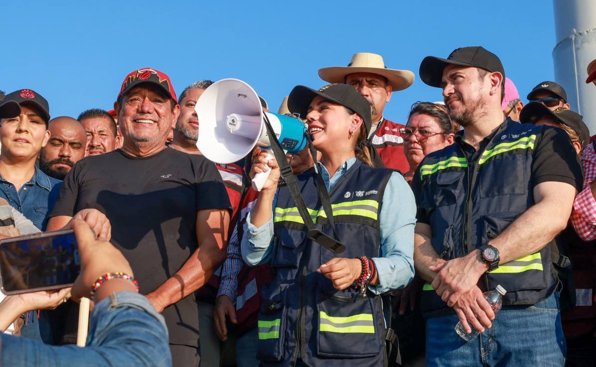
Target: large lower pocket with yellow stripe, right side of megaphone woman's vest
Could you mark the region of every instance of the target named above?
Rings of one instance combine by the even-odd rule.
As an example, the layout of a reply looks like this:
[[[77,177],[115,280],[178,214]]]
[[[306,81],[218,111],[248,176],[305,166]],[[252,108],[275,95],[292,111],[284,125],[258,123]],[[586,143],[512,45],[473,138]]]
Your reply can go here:
[[[319,300],[317,355],[356,359],[383,353],[380,323],[373,310],[370,297],[336,295]]]

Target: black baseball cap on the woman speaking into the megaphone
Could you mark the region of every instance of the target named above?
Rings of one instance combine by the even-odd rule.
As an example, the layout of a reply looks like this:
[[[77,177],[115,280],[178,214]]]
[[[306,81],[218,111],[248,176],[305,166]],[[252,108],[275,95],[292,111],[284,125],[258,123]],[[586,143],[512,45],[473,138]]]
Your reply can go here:
[[[357,113],[364,120],[364,126],[367,129],[368,135],[371,129],[371,104],[366,98],[356,92],[356,89],[351,85],[329,84],[318,91],[308,88],[308,86],[295,86],[288,97],[288,109],[291,113],[300,114],[302,119],[306,119],[308,107],[317,96],[343,105],[343,107]]]

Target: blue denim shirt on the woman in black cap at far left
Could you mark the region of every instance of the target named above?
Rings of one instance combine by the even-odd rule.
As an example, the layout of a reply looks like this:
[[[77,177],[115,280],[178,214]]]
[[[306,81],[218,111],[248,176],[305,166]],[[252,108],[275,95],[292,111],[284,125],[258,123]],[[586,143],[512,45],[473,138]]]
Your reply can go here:
[[[14,185],[0,175],[0,197],[44,231],[48,224],[48,213],[58,199],[61,183],[35,167],[33,177],[17,192]]]

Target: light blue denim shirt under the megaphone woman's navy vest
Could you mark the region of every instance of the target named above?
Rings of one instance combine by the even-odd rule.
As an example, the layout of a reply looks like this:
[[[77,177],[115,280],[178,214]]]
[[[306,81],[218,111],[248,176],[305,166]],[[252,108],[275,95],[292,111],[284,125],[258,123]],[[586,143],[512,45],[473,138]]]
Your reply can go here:
[[[337,181],[356,162],[350,158],[337,169],[333,176],[327,172],[325,166],[319,163],[319,172],[331,190]],[[277,201],[277,194],[273,206]],[[394,172],[387,182],[383,194],[379,213],[381,245],[379,257],[374,258],[377,265],[379,284],[369,287],[371,291],[380,294],[390,290],[403,288],[414,277],[414,226],[416,223],[416,202],[414,194],[402,175]],[[250,222],[250,213],[244,225],[241,253],[244,261],[249,265],[267,262],[271,254],[271,240],[273,238],[273,220],[256,228]]]

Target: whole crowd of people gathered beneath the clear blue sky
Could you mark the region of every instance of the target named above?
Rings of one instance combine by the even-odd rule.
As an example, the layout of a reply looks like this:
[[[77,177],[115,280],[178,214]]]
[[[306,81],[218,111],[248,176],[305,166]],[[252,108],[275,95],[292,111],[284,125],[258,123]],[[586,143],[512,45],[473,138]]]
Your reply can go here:
[[[596,84],[596,60],[587,69]],[[498,56],[458,48],[421,62],[443,101],[412,101],[403,125],[384,109],[412,71],[357,53],[318,74],[330,84],[296,86],[278,110],[309,140],[286,161],[201,155],[195,107],[211,80],[177,97],[167,74],[134,70],[113,110],[73,117],[51,118],[39,91],[2,93],[0,224],[75,228],[85,248],[80,274],[61,249],[43,274],[0,251],[20,273],[78,275],[72,291],[0,303],[21,335],[2,335],[2,362],[592,365],[595,143],[563,87],[540,82],[524,105]],[[498,285],[500,309],[483,295]],[[95,302],[87,352],[54,347],[76,343],[71,292]]]

